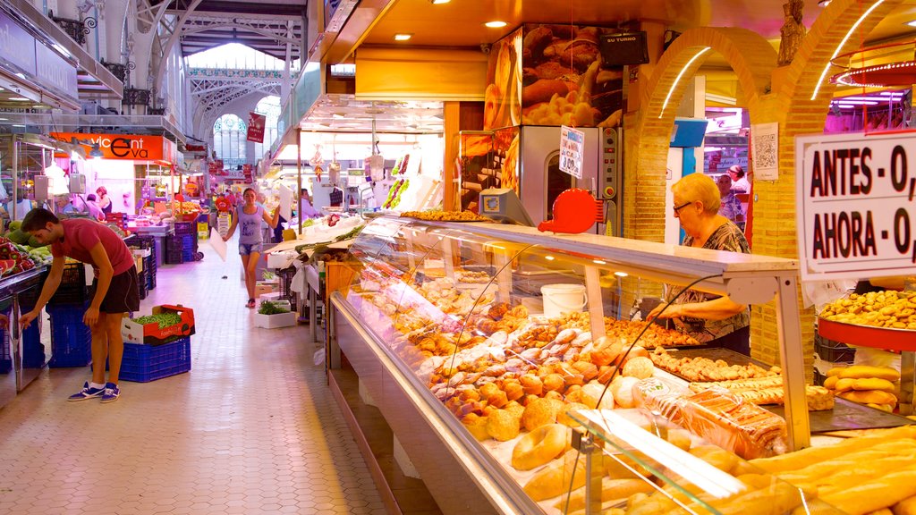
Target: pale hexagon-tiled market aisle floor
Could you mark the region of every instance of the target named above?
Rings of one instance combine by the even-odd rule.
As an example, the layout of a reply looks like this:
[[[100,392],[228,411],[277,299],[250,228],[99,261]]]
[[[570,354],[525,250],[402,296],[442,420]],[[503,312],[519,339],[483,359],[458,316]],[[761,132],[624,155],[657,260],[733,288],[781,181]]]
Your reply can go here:
[[[0,513],[385,513],[307,327],[255,328],[239,258],[201,249],[141,309],[194,309],[191,372],[101,404],[66,400],[88,368],[46,369],[0,410]]]

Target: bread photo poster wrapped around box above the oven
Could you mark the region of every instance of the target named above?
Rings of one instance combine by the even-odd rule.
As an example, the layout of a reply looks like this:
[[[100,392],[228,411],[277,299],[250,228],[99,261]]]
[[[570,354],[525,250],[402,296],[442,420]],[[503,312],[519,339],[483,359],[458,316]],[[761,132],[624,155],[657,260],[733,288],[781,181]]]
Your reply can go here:
[[[484,128],[620,125],[623,67],[605,66],[601,36],[618,28],[526,24],[490,51]]]

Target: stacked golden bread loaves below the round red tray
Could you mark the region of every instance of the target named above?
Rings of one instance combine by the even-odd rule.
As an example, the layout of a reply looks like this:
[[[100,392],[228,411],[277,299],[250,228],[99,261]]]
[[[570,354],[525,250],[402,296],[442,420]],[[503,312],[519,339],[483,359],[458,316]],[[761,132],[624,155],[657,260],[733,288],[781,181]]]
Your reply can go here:
[[[827,371],[823,386],[834,395],[881,411],[897,407],[900,372],[890,367],[834,367]]]

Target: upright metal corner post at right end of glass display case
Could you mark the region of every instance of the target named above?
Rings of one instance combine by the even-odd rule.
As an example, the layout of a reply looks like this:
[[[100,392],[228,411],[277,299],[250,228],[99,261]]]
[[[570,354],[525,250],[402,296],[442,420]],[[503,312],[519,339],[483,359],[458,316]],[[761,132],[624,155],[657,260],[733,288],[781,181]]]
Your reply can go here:
[[[798,301],[798,286],[794,276],[783,276],[778,281],[776,329],[780,340],[782,397],[786,403],[789,450],[798,451],[811,445],[808,400],[805,396],[802,322],[795,305]]]

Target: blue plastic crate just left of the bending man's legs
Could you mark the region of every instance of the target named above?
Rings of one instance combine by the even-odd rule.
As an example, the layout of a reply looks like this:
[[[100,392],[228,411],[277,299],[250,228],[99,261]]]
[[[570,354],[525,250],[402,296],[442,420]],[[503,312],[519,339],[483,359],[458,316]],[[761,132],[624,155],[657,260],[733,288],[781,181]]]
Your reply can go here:
[[[51,317],[51,359],[48,367],[85,367],[93,360],[92,331],[82,323],[87,307],[88,302],[45,308]]]

